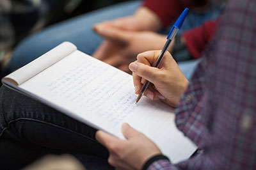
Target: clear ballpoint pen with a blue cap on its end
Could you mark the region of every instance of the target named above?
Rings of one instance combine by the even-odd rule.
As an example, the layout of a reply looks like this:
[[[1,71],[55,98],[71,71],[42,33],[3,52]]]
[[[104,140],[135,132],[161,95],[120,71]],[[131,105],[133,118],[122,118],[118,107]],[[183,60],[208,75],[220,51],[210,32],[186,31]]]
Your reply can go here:
[[[169,35],[167,36],[167,41],[163,47],[163,50],[161,51],[161,54],[159,56],[159,58],[157,59],[157,62],[156,62],[156,65],[154,67],[159,67],[162,59],[163,59],[163,56],[166,52],[166,50],[168,50],[168,47],[170,46],[172,40],[175,38],[175,36],[177,35],[180,27],[182,26],[186,16],[188,14],[188,8],[186,8],[180,15],[179,19],[177,19],[177,21],[175,22],[175,24],[173,25]],[[141,91],[140,91],[140,94],[138,95],[138,98],[136,99],[136,103],[139,102],[140,98],[142,97],[144,91],[148,88],[148,85],[149,85],[149,81],[146,81],[145,84],[143,85]]]

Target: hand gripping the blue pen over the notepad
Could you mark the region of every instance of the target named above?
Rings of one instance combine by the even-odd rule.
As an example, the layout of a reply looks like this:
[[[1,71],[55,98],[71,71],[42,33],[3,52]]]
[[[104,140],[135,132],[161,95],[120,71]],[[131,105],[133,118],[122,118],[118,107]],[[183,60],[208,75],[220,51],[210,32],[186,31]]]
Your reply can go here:
[[[159,98],[166,104],[175,107],[188,86],[188,80],[180,71],[170,52],[164,54],[159,68],[153,67],[160,53],[160,50],[143,52],[138,54],[137,61],[129,65],[135,93],[140,93],[146,79],[152,84],[146,89],[145,96],[151,100]]]

